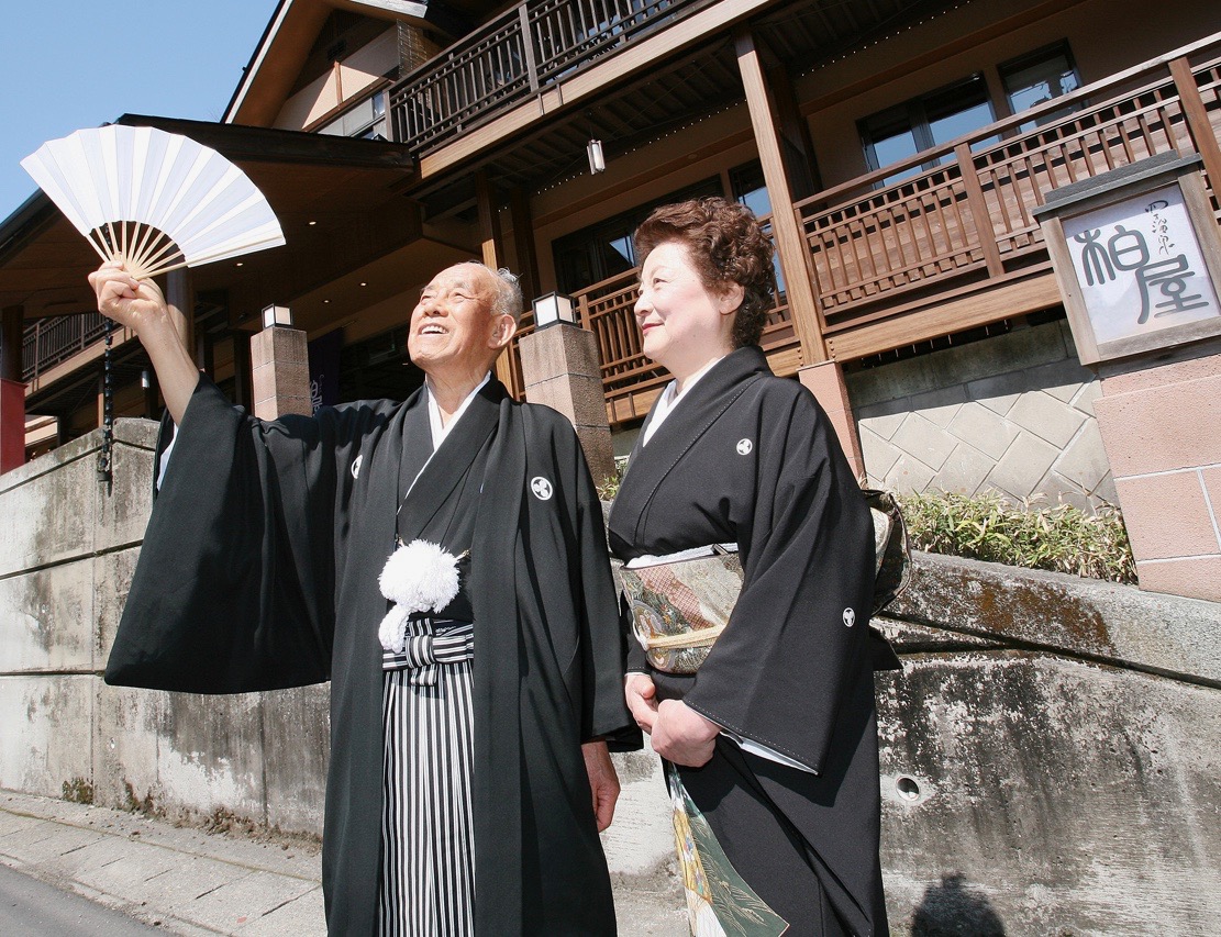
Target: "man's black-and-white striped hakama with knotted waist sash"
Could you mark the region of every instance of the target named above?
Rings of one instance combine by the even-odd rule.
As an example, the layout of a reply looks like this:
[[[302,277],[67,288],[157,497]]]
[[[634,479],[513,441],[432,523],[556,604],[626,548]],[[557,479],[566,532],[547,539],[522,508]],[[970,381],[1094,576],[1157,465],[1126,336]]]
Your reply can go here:
[[[386,652],[380,932],[474,933],[474,626],[410,621]]]

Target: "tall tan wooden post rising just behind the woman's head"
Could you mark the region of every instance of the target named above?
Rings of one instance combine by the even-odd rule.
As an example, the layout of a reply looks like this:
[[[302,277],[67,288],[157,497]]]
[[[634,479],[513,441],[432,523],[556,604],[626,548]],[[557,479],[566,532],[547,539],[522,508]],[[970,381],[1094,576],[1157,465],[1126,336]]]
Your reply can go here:
[[[801,224],[792,209],[792,185],[784,165],[784,145],[775,122],[775,105],[770,88],[763,74],[758,50],[750,31],[742,29],[734,38],[737,66],[746,89],[746,106],[751,112],[755,143],[763,166],[763,182],[772,199],[772,233],[784,271],[785,293],[801,354],[805,362],[825,361],[827,343],[823,339],[818,300],[814,296],[814,277],[810,251],[801,232]]]

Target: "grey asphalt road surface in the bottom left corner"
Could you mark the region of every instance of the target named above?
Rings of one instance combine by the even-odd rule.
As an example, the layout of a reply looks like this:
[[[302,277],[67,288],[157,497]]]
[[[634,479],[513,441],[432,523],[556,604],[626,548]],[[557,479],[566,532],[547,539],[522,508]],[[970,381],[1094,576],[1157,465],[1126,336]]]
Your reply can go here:
[[[0,865],[0,933],[12,937],[148,937],[165,931]]]

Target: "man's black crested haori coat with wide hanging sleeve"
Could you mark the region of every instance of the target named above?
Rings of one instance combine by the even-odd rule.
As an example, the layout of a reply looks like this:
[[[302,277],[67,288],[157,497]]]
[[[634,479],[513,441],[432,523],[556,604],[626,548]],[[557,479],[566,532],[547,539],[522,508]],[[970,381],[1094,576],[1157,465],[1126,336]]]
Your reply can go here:
[[[484,427],[471,542],[477,935],[612,935],[580,743],[630,723],[602,514],[571,426],[496,381],[416,484],[444,503]],[[200,381],[154,503],[106,681],[239,693],[331,680],[322,880],[332,933],[376,932],[382,815],[377,576],[424,392],[261,422]],[[465,449],[465,451],[463,451]],[[431,517],[413,492],[413,523]],[[411,537],[410,531],[405,533]]]

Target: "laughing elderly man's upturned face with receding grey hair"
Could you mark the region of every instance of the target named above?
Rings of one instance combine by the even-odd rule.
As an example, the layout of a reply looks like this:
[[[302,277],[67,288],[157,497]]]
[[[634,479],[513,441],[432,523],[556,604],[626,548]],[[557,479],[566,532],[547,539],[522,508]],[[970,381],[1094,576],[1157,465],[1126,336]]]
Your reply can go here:
[[[411,361],[438,378],[482,377],[513,337],[513,317],[492,315],[495,299],[492,273],[476,264],[437,273],[411,311]]]

